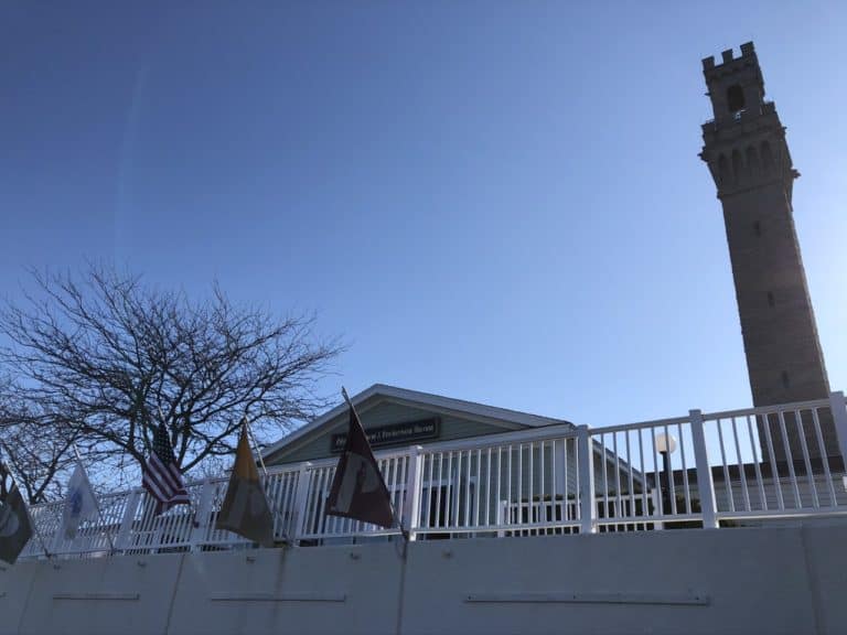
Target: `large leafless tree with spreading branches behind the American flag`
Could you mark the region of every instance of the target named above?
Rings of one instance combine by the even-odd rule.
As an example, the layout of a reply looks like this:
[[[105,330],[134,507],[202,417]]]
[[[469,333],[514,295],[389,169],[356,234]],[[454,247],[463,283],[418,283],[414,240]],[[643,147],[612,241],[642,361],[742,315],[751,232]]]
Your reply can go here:
[[[245,413],[274,440],[326,405],[315,389],[342,346],[315,337],[314,316],[277,320],[217,284],[193,301],[105,266],[32,279],[0,311],[0,364],[40,424],[109,474],[143,463],[162,420],[185,472],[232,453]]]

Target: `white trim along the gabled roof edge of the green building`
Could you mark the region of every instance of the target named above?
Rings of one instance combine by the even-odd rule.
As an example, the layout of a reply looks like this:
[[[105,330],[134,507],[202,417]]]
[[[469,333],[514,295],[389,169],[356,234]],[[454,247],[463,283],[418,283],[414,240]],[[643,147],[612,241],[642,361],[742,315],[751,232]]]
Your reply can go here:
[[[542,417],[539,415],[530,415],[528,412],[521,412],[518,410],[508,410],[506,408],[486,406],[485,403],[464,401],[462,399],[453,399],[452,397],[442,397],[441,395],[431,395],[429,392],[419,392],[418,390],[397,388],[396,386],[386,386],[385,384],[374,384],[369,388],[363,390],[354,397],[351,397],[350,400],[354,406],[358,406],[360,403],[363,403],[377,396],[389,400],[398,400],[412,405],[424,406],[425,408],[429,407],[438,410],[454,412],[457,415],[470,415],[475,418],[502,421],[505,424],[512,424],[512,427],[516,426],[526,428],[540,428],[544,426],[559,426],[562,423],[571,424],[569,421],[565,421],[564,419]],[[307,423],[302,428],[299,428],[280,439],[274,443],[274,445],[266,448],[261,454],[262,459],[267,460],[272,454],[279,452],[282,448],[290,445],[299,439],[302,439],[303,437],[317,431],[336,417],[343,415],[346,409],[346,403],[339,403],[335,408],[324,412],[311,423]]]

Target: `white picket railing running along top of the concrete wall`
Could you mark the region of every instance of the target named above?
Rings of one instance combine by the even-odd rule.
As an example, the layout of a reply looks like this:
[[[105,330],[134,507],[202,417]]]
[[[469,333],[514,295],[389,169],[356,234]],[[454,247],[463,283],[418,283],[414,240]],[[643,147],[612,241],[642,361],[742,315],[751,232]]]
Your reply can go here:
[[[550,426],[377,453],[410,539],[719,527],[847,515],[847,409],[829,399],[589,429]],[[399,534],[328,516],[336,460],[264,476],[279,542]],[[156,516],[140,488],[98,499],[100,517],[62,534],[62,503],[31,509],[24,557],[247,548],[215,529],[227,478],[189,484],[191,505]]]

